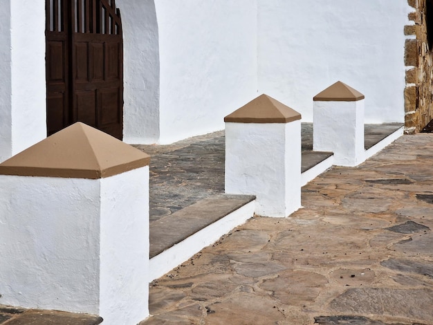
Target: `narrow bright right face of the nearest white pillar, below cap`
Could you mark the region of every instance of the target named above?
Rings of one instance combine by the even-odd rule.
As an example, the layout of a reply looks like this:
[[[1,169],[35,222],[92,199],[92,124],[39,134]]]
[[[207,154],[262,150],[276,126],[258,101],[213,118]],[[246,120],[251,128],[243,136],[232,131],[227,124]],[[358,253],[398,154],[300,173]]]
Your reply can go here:
[[[101,179],[100,311],[107,324],[149,316],[149,166]]]

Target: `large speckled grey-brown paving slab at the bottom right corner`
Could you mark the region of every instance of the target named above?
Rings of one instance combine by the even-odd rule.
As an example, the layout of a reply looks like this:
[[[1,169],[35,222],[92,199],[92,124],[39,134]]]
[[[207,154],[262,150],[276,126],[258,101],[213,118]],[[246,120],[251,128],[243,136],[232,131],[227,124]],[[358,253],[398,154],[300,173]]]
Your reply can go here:
[[[331,301],[331,310],[344,314],[387,315],[432,321],[433,290],[353,288]]]

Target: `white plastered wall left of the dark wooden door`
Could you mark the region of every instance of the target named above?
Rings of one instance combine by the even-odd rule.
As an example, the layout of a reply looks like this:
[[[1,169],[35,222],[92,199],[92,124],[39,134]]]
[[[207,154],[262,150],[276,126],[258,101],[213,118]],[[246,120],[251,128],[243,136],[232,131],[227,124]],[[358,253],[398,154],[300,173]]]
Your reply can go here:
[[[0,8],[0,161],[46,137],[45,1]]]

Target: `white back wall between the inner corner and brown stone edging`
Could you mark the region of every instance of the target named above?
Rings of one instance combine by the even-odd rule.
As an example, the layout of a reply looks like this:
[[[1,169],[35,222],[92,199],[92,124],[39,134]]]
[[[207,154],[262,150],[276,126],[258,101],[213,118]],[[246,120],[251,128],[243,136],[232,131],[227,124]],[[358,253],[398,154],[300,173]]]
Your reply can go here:
[[[341,80],[366,122],[403,122],[407,0],[258,0],[259,92],[313,120],[313,96]]]

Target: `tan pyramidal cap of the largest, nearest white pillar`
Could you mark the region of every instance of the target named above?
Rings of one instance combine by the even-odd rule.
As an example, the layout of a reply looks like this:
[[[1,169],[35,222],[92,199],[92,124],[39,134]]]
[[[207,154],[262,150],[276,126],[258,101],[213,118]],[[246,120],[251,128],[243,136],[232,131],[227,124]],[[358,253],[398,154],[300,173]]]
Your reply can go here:
[[[150,156],[77,122],[0,164],[0,174],[98,179],[149,165]]]

